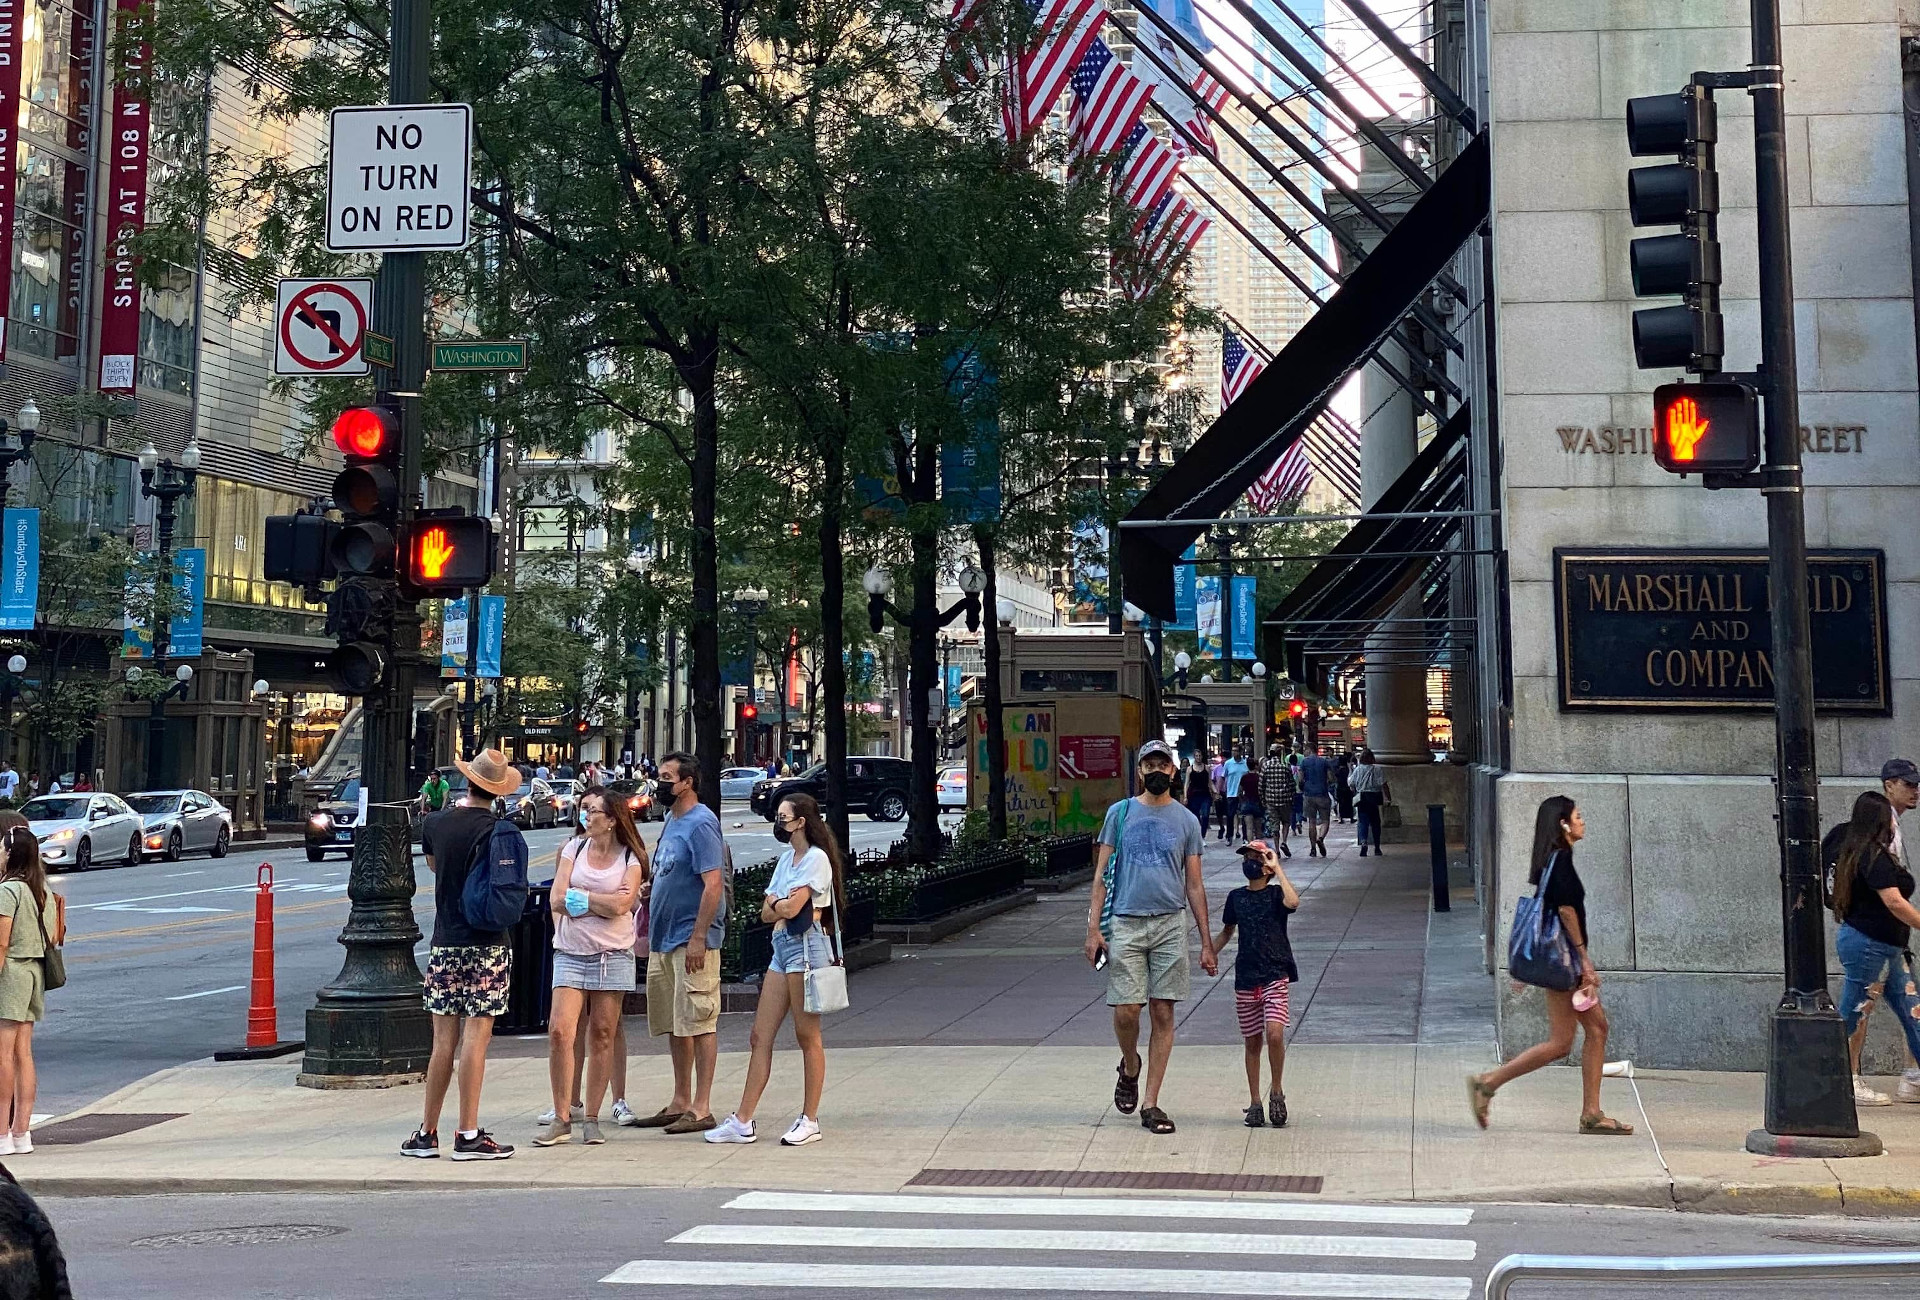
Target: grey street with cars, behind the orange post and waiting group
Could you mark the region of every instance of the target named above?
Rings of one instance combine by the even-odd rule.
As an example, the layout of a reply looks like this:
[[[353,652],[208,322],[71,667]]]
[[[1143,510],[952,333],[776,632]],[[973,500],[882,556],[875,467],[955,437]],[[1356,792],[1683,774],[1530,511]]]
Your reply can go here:
[[[735,828],[735,822],[741,824]],[[720,822],[739,866],[780,851],[770,826],[745,805]],[[659,822],[645,828],[647,843]],[[852,822],[854,849],[883,849],[904,822]],[[561,830],[528,835],[534,879],[551,874]],[[234,845],[230,856],[102,866],[54,876],[67,897],[67,987],[48,997],[35,1031],[40,1114],[58,1116],[134,1079],[211,1056],[246,1039],[253,972],[253,895],[261,862],[275,872],[275,979],[280,1037],[301,1037],[321,985],[340,974],[340,926],[348,916],[348,862],[307,862],[303,849],[275,853]],[[432,931],[432,874],[415,855],[419,954]]]

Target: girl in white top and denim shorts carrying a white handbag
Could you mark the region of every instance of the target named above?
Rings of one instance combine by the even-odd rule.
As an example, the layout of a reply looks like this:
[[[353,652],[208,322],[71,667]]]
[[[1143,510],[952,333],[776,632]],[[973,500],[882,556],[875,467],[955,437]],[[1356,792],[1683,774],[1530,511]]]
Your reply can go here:
[[[774,814],[774,835],[787,843],[774,866],[760,903],[760,920],[774,927],[774,960],[760,981],[760,1004],[753,1016],[753,1056],[739,1108],[707,1131],[708,1143],[751,1143],[758,1135],[753,1112],[760,1106],[766,1081],[774,1073],[774,1037],[793,1016],[793,1037],[801,1045],[801,1118],[780,1139],[783,1146],[820,1141],[820,1093],[828,1077],[828,1050],[820,1041],[820,1016],[806,1010],[806,972],[831,966],[833,939],[824,927],[828,908],[841,899],[841,855],[820,816],[812,795],[787,795]]]

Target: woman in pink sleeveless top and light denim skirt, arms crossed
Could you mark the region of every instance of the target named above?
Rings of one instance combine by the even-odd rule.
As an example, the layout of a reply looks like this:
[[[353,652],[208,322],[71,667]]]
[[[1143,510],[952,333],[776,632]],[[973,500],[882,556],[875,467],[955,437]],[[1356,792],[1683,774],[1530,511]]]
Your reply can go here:
[[[612,1073],[620,1002],[634,989],[634,912],[647,881],[647,847],[632,816],[622,816],[626,806],[609,801],[603,791],[588,791],[580,806],[586,835],[561,851],[561,870],[549,895],[555,924],[547,1071],[555,1119],[534,1139],[534,1146],[557,1146],[574,1137],[566,1104],[574,1093],[574,1035],[582,1006],[588,1014],[582,1141],[588,1146],[607,1141],[599,1129],[599,1106]]]

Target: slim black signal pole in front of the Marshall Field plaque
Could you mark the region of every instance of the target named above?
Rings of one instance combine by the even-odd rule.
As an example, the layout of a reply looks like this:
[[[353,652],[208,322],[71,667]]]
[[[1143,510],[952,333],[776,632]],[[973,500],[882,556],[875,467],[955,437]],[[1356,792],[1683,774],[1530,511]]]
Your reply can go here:
[[[1812,751],[1812,632],[1807,609],[1807,511],[1801,486],[1799,369],[1788,236],[1786,102],[1778,0],[1753,0],[1753,157],[1761,271],[1761,380],[1766,415],[1766,578],[1772,595],[1774,745],[1780,818],[1786,993],[1768,1020],[1764,1129],[1747,1150],[1776,1156],[1870,1156],[1853,1108],[1847,1035],[1826,983],[1820,808]]]

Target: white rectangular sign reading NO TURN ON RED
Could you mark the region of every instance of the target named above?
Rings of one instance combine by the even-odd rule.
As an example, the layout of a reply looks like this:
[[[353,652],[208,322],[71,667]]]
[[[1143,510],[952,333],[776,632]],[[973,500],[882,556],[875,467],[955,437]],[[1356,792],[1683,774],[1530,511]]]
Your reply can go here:
[[[326,154],[326,248],[467,248],[472,108],[336,108]]]

